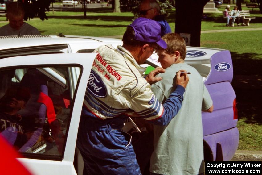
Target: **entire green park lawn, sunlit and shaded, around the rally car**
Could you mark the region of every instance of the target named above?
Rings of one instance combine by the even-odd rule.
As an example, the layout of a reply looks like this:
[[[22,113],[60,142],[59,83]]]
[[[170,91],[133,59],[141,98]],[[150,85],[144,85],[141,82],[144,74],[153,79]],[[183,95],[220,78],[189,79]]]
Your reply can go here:
[[[224,7],[219,7],[220,11]],[[243,5],[243,10],[251,10]],[[262,14],[258,10],[251,11],[251,16],[256,17],[250,22],[250,26],[225,27],[225,19],[222,13],[207,13],[210,19],[203,20],[201,30],[220,30],[234,28],[257,28],[262,27]],[[42,34],[67,34],[89,36],[113,36],[123,35],[126,27],[132,22],[131,12],[112,13],[111,7],[88,9],[87,18],[83,12],[59,12],[47,13],[48,20],[41,21],[39,18],[28,20]],[[175,10],[170,10],[170,16],[166,18],[172,31],[175,27]],[[6,25],[5,17],[0,17],[0,27]],[[219,32],[201,34],[201,46],[227,49],[231,52],[234,75],[262,75],[262,35],[258,31]],[[251,85],[252,86],[252,85]],[[262,111],[260,109],[262,85],[257,89],[235,89],[239,100],[240,133],[239,149],[262,151]],[[250,98],[250,92],[252,97]],[[239,98],[240,97],[240,98]],[[252,99],[252,100],[250,100]],[[259,105],[253,105],[259,104]]]

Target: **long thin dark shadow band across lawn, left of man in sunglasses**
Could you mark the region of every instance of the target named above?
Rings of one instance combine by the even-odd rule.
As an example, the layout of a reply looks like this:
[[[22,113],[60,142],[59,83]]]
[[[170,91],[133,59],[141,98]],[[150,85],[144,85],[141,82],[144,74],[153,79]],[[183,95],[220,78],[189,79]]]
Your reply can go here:
[[[80,19],[80,20],[97,20],[100,19],[101,21],[114,21],[114,22],[123,22],[123,21],[132,21],[134,18],[133,16],[96,16],[96,15],[88,15],[84,18],[83,15],[67,15],[67,16],[48,16],[48,19]]]

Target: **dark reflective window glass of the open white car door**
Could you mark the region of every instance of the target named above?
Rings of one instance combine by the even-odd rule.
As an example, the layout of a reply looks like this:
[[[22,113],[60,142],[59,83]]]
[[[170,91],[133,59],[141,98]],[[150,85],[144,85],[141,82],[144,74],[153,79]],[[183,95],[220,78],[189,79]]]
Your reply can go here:
[[[0,134],[24,157],[62,160],[79,73],[70,66],[0,71]]]

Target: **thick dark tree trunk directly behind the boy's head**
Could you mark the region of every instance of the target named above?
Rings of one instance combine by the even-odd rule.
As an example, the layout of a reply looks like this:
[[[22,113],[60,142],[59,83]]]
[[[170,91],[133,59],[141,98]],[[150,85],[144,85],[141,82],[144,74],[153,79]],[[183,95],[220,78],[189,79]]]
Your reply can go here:
[[[188,45],[200,47],[201,19],[209,0],[176,0],[175,33],[189,36]]]

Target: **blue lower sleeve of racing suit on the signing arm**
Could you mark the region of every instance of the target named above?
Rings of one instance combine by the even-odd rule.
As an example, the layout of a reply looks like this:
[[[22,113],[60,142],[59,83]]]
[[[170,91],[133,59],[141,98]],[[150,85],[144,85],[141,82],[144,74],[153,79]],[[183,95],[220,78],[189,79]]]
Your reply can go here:
[[[181,85],[177,85],[177,88],[170,96],[166,99],[163,104],[164,112],[160,118],[154,120],[148,120],[149,123],[155,125],[164,126],[167,125],[171,119],[177,115],[178,111],[182,106],[182,101],[184,99],[185,88]]]

